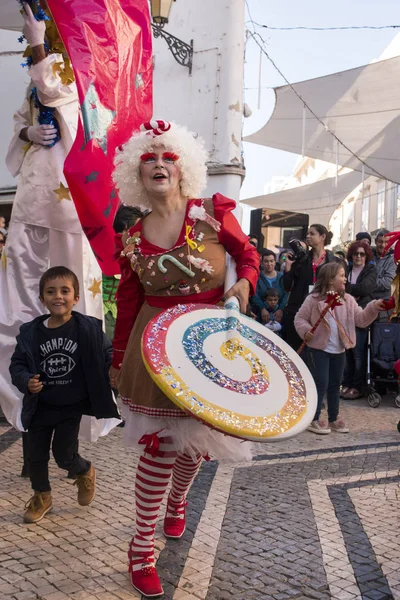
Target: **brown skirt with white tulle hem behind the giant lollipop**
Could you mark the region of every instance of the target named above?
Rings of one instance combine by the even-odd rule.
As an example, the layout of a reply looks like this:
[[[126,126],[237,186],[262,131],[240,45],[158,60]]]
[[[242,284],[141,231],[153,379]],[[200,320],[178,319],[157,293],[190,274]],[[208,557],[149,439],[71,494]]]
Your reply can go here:
[[[124,442],[138,446],[142,436],[157,433],[160,438],[171,437],[180,453],[208,454],[218,460],[251,460],[249,442],[215,431],[183,412],[148,374],[140,349],[142,334],[148,322],[162,310],[145,302],[129,337],[118,379],[125,419]]]

